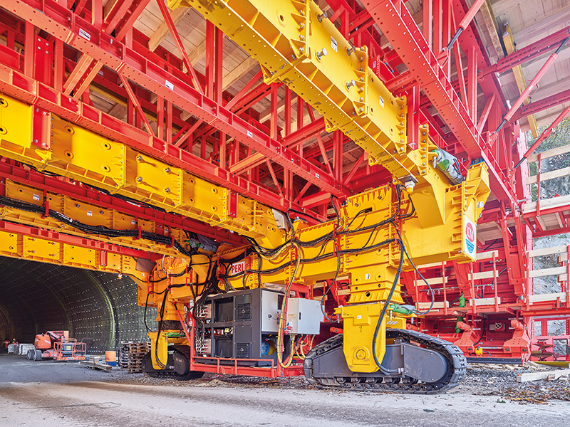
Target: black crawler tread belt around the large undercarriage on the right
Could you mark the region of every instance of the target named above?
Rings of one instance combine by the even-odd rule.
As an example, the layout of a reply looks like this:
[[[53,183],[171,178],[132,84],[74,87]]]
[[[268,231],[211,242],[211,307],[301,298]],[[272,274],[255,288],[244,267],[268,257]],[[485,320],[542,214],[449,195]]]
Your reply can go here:
[[[304,363],[304,372],[309,384],[322,388],[331,386],[343,387],[352,390],[383,390],[383,391],[400,391],[413,394],[437,394],[452,389],[460,384],[465,376],[467,359],[459,347],[447,342],[443,339],[431,337],[430,335],[410,330],[387,329],[387,339],[400,339],[410,344],[420,344],[426,349],[433,350],[442,354],[447,359],[447,371],[445,376],[435,382],[420,382],[416,379],[406,376],[388,376],[383,375],[381,371],[373,374],[363,374],[351,372],[346,366],[340,367],[339,376],[318,376],[314,372],[314,362],[325,354],[331,354],[335,350],[340,349],[342,353],[343,335],[338,334],[335,337],[327,339],[325,342],[311,349],[306,355]],[[344,360],[343,358],[341,359]],[[418,363],[420,363],[418,361]],[[347,375],[348,374],[348,375]]]

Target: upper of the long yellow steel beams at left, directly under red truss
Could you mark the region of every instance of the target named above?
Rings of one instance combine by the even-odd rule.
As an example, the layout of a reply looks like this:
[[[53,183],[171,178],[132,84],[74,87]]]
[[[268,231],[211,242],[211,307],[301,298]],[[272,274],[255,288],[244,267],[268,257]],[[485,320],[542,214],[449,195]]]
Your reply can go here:
[[[56,115],[44,120],[51,126],[50,149],[33,143],[33,107],[2,95],[0,155],[221,226],[266,247],[283,241],[285,232],[267,206]]]

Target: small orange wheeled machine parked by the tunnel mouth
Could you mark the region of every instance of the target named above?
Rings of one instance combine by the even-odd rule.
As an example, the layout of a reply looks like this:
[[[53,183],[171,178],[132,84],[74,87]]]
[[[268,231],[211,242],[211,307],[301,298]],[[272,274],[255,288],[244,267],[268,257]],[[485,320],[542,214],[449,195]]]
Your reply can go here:
[[[28,360],[53,359],[58,362],[76,362],[86,359],[86,344],[69,338],[69,331],[48,331],[36,335]]]

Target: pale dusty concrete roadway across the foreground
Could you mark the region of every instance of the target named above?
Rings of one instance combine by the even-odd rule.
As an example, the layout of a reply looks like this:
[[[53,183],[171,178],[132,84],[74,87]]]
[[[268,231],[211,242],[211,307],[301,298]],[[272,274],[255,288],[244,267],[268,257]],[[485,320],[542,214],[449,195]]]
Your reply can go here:
[[[552,427],[570,417],[567,402],[497,403],[497,396],[474,395],[468,385],[416,396],[177,381],[151,386],[125,383],[126,376],[2,355],[0,426]]]

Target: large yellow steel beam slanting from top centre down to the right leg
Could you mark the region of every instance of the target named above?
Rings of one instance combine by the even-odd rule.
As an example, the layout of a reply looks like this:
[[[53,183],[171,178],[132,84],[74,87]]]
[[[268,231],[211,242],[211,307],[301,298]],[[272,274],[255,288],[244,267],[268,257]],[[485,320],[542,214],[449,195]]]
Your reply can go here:
[[[354,47],[311,0],[170,0],[192,6],[252,57],[266,83],[284,82],[401,182],[427,170],[406,145],[405,97],[394,97]],[[411,178],[413,176],[413,179]]]

